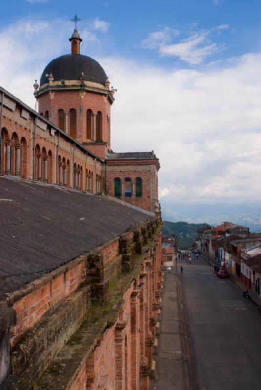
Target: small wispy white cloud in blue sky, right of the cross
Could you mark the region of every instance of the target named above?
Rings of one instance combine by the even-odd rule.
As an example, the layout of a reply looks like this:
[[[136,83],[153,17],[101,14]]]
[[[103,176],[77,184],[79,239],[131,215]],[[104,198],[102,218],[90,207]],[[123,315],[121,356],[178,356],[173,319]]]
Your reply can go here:
[[[230,26],[228,24],[221,24],[210,30],[192,32],[180,42],[171,43],[173,38],[177,38],[179,32],[165,27],[160,31],[150,33],[141,42],[141,46],[147,49],[158,49],[162,56],[173,56],[190,65],[198,65],[207,57],[225,49],[226,46],[214,42],[211,39],[211,35],[215,32],[216,35],[220,35],[221,31],[229,28]],[[176,31],[176,34],[173,31]]]

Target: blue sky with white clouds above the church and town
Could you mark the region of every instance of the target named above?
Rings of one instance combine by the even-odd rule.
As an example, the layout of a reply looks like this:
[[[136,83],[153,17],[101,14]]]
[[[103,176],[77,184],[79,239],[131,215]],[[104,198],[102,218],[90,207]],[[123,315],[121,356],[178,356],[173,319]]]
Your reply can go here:
[[[112,148],[154,150],[163,212],[259,204],[261,1],[5,1],[0,84],[32,107],[34,80],[70,52],[75,13],[81,53],[117,88]]]

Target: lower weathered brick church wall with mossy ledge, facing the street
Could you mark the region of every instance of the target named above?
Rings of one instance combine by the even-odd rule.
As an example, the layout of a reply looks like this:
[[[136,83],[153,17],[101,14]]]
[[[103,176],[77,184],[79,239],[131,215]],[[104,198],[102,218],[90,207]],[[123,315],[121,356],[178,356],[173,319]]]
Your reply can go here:
[[[161,266],[156,218],[2,299],[13,375],[26,389],[148,389]]]

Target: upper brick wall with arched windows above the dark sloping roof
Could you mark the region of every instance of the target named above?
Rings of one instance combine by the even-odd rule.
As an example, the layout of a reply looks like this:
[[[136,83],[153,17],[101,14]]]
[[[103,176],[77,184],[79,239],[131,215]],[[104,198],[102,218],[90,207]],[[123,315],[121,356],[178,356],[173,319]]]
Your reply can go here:
[[[73,141],[62,136],[61,133],[55,132],[50,125],[47,126],[46,130],[35,126],[35,117],[29,116],[28,119],[25,119],[21,116],[21,112],[21,108],[18,106],[15,111],[3,108],[2,173],[77,188],[78,183],[75,180],[75,170],[77,170],[80,172],[80,190],[88,190],[93,193],[104,191],[104,163],[102,161],[94,158]],[[10,150],[10,158],[8,158],[10,169],[7,166],[8,147]],[[20,151],[19,172],[16,167],[17,149]],[[45,160],[47,174],[44,172]],[[88,175],[91,176],[90,189],[87,184]],[[100,178],[100,183],[102,183],[99,191],[97,190],[96,176]]]

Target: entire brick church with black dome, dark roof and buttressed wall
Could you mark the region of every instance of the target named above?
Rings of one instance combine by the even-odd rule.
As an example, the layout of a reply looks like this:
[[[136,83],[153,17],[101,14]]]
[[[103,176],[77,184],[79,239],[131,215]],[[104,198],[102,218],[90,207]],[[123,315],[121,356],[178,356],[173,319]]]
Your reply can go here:
[[[35,82],[39,113],[0,88],[0,389],[148,390],[159,161],[112,151],[115,90],[69,40]]]

